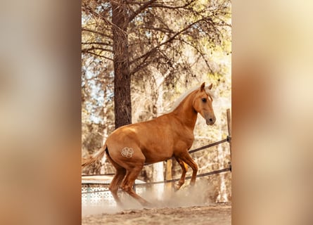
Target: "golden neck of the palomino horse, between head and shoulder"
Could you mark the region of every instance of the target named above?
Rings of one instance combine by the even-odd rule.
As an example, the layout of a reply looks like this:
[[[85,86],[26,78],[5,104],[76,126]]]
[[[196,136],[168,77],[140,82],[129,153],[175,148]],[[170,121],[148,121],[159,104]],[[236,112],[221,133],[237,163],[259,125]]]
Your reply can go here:
[[[183,101],[173,110],[173,114],[181,121],[186,127],[194,129],[197,120],[197,112],[193,108],[193,98],[196,91],[191,92]]]

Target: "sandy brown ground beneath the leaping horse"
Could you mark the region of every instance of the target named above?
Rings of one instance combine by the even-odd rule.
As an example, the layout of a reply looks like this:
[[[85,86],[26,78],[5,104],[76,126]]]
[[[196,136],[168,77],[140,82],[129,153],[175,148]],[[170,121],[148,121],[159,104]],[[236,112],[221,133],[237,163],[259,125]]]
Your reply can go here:
[[[143,208],[82,217],[82,224],[231,224],[231,203],[192,207]]]

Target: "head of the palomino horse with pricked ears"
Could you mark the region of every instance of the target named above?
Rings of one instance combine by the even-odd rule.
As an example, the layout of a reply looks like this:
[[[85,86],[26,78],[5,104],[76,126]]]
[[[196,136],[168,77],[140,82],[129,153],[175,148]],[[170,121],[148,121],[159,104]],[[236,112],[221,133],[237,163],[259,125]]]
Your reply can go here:
[[[213,98],[210,89],[212,89],[212,84],[205,86],[205,82],[203,82],[195,98],[193,98],[193,108],[203,116],[207,125],[213,125],[216,120],[212,108]]]

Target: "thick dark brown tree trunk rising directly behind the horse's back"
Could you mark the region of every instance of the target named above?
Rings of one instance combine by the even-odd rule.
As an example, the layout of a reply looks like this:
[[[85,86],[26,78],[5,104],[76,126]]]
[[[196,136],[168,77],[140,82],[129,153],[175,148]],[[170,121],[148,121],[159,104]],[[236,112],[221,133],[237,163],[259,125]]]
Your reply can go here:
[[[130,98],[131,77],[129,74],[129,52],[127,36],[127,11],[120,4],[112,2],[113,63],[114,63],[114,113],[115,129],[132,123]]]

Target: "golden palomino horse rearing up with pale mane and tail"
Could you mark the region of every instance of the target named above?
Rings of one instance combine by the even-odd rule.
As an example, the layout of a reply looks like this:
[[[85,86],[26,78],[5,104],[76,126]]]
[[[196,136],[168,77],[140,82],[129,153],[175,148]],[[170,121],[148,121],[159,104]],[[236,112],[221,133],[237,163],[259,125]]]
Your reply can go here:
[[[116,169],[110,191],[118,205],[122,205],[117,196],[119,187],[141,205],[149,205],[133,190],[134,181],[145,163],[161,162],[174,156],[182,170],[181,178],[174,188],[178,190],[184,184],[187,165],[193,169],[191,185],[194,185],[198,166],[188,150],[193,143],[193,129],[198,113],[203,116],[207,125],[215,123],[210,89],[212,84],[205,86],[203,83],[200,88],[188,93],[172,112],[146,122],[119,127],[108,136],[96,156],[83,162],[82,167],[100,160],[106,153],[108,161]]]

